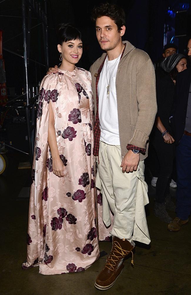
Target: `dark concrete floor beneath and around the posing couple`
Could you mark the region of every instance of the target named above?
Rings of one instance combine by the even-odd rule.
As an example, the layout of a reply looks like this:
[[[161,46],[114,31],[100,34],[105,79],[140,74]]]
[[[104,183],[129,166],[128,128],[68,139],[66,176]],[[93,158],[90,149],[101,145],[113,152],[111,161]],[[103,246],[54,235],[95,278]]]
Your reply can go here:
[[[43,276],[38,268],[26,271],[21,264],[26,259],[26,232],[28,199],[19,198],[23,187],[29,186],[30,170],[18,170],[19,162],[28,160],[21,154],[8,154],[9,171],[0,176],[1,194],[1,282],[0,294],[14,295],[94,295],[94,281],[105,264],[107,255],[101,257],[88,270],[80,273]],[[147,175],[146,175],[147,176]],[[148,183],[150,178],[147,176]],[[175,196],[175,189],[171,189]],[[155,188],[149,186],[150,204],[147,221],[151,244],[136,243],[134,267],[130,258],[125,261],[123,273],[115,285],[104,294],[191,294],[191,222],[180,232],[167,231],[167,224],[153,214]],[[175,199],[174,199],[175,201]],[[175,217],[175,213],[170,213]],[[110,252],[110,242],[100,242],[100,251]]]

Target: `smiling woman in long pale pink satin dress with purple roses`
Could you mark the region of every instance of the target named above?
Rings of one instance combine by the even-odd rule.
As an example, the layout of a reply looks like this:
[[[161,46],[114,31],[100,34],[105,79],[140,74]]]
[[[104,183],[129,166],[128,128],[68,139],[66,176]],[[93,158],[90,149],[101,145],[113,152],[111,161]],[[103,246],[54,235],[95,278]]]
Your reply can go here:
[[[81,33],[58,30],[61,65],[43,78],[29,202],[27,260],[42,274],[83,271],[99,257],[91,74],[75,65]]]

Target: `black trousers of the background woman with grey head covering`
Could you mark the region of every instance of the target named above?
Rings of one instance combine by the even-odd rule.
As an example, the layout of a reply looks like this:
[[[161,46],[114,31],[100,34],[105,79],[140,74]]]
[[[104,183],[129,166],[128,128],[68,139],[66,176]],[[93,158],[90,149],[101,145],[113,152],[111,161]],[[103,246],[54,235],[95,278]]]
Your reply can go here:
[[[175,156],[175,145],[174,143],[165,143],[160,133],[156,133],[153,136],[152,144],[155,148],[160,165],[160,171],[156,183],[156,201],[162,203],[165,201],[166,195],[169,194],[169,184]]]

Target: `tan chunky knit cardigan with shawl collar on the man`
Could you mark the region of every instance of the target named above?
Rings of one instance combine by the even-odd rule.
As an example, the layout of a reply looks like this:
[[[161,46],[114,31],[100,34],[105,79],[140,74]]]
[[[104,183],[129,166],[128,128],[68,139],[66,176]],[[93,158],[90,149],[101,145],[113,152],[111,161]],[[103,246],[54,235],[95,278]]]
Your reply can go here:
[[[155,71],[147,53],[135,48],[128,41],[123,43],[126,43],[126,47],[115,80],[121,153],[122,157],[127,153],[127,144],[146,148],[145,155],[140,154],[140,160],[144,160],[148,155],[148,139],[157,112]],[[95,74],[98,73],[105,55],[103,53],[90,68],[95,117]]]

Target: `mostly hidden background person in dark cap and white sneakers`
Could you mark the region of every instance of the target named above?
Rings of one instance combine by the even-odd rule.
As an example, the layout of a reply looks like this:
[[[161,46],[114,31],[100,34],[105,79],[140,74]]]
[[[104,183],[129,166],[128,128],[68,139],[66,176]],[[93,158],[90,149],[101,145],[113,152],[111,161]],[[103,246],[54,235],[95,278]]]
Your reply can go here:
[[[164,58],[167,58],[168,56],[177,53],[178,47],[174,43],[167,43],[164,48],[163,48],[163,53],[162,53],[162,59],[160,63],[164,60]],[[158,73],[159,72],[159,73]],[[161,75],[161,67],[159,66],[156,71],[156,75]],[[158,161],[157,154],[155,153],[155,150],[153,150],[152,144],[149,147],[149,158],[148,162],[150,163],[150,171],[152,173],[152,179],[151,179],[151,185],[156,186],[157,179],[158,179],[158,174],[160,173],[160,164]],[[170,180],[170,187],[176,188],[176,167],[175,167],[175,161],[173,163],[173,171],[172,171],[172,179]]]

